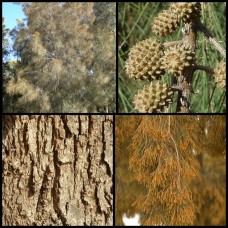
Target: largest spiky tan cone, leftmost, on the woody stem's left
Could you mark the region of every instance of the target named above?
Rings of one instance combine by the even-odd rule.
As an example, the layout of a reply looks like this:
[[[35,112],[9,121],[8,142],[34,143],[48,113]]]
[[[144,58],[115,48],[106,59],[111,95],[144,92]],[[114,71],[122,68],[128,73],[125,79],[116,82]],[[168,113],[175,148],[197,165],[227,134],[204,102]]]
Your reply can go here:
[[[127,75],[138,80],[159,79],[164,74],[163,55],[163,45],[156,39],[137,43],[131,48],[126,61]]]

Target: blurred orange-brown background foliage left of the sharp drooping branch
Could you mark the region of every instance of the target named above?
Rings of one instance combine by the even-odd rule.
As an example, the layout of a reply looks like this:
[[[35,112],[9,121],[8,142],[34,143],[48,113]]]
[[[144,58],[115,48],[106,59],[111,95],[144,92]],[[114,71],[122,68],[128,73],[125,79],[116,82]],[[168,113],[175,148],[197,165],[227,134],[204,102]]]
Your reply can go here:
[[[115,221],[117,225],[124,225],[122,221],[124,213],[126,213],[126,217],[133,217],[138,212],[133,203],[138,195],[145,190],[144,186],[135,181],[132,170],[128,168],[131,137],[141,118],[141,116],[116,116]]]

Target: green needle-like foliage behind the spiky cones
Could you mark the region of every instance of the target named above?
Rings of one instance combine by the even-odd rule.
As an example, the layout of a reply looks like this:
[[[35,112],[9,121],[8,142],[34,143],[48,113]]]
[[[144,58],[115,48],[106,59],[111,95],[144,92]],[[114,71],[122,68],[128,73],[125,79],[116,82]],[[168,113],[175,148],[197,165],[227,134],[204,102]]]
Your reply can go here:
[[[170,3],[119,3],[118,5],[118,110],[121,113],[132,113],[134,107],[132,98],[145,82],[134,81],[125,74],[125,61],[129,49],[137,42],[155,37],[151,31],[151,22],[157,14],[168,8]],[[226,46],[226,5],[225,3],[202,3],[202,22],[212,34]],[[160,38],[159,38],[160,39]],[[171,36],[162,41],[181,39],[181,27]],[[222,60],[220,53],[199,33],[197,43],[197,63],[214,67]],[[164,81],[169,81],[168,75]],[[146,82],[148,83],[148,82]],[[191,112],[216,113],[225,112],[225,92],[213,83],[213,78],[205,72],[196,71],[193,89],[198,92],[193,94]],[[175,100],[174,100],[175,103]],[[174,106],[174,105],[173,105]],[[175,107],[173,107],[174,109]]]

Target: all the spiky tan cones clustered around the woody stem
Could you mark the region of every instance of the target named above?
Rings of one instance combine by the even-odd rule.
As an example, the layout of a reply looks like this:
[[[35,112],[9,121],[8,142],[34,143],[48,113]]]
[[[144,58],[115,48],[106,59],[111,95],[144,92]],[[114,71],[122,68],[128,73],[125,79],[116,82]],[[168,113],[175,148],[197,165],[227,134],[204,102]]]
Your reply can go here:
[[[201,5],[198,2],[172,3],[168,10],[163,10],[152,23],[153,32],[159,36],[168,36],[183,23],[200,20]],[[182,75],[188,68],[196,65],[194,48],[180,42],[170,48],[159,40],[151,38],[143,40],[133,46],[126,61],[126,73],[136,80],[148,80],[134,97],[135,109],[144,113],[157,113],[164,111],[172,103],[171,87],[158,81],[165,73],[173,76]],[[225,62],[217,64],[214,69],[217,86],[225,88],[226,65]]]

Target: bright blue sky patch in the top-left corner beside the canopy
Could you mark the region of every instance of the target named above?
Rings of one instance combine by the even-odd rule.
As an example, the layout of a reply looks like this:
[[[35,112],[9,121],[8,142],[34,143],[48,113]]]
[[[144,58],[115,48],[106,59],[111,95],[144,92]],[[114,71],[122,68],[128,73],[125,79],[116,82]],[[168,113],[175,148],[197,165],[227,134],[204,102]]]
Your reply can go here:
[[[23,18],[25,18],[22,7],[12,2],[3,2],[2,11],[2,15],[5,18],[5,25],[9,29],[12,29],[17,25],[16,19],[22,20]]]

